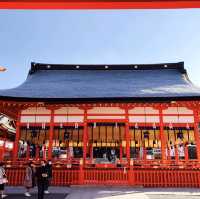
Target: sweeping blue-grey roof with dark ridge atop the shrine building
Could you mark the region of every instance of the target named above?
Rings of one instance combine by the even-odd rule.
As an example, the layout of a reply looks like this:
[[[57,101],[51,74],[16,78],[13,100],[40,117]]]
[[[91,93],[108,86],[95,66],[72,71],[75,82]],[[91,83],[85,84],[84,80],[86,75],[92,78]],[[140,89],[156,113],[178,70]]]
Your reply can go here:
[[[20,86],[0,98],[100,100],[199,98],[183,62],[154,65],[48,65],[32,63]]]

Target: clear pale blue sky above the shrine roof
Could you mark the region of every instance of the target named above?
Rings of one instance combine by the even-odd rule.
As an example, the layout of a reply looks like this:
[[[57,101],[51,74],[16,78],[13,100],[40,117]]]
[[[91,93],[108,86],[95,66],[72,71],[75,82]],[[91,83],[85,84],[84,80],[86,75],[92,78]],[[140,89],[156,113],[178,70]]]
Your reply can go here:
[[[30,62],[143,64],[185,61],[200,86],[200,9],[0,10],[0,89],[21,84]]]

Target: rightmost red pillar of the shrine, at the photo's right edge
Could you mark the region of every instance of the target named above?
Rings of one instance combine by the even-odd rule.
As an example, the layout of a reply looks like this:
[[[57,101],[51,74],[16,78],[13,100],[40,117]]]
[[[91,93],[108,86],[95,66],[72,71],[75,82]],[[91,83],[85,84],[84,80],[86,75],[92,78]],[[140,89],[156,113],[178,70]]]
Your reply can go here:
[[[200,138],[199,138],[199,118],[198,118],[198,110],[193,110],[194,113],[194,137],[196,142],[196,149],[197,149],[197,159],[200,163]]]

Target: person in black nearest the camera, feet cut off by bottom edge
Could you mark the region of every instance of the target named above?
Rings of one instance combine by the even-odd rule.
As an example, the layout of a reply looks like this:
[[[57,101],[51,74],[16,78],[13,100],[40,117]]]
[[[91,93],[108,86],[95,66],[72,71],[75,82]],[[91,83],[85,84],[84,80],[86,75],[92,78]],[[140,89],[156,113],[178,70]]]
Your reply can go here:
[[[38,187],[38,199],[44,198],[44,189],[46,183],[48,183],[48,172],[46,169],[45,161],[42,160],[40,166],[36,171],[37,187]]]

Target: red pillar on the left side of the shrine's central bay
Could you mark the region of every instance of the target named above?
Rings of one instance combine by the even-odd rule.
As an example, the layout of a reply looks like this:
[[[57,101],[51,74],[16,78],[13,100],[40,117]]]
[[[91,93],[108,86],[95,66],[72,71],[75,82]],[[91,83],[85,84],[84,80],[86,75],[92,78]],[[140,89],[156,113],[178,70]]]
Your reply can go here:
[[[88,129],[87,129],[87,110],[84,109],[84,123],[83,123],[83,165],[85,165],[87,155],[87,140],[88,140]]]

